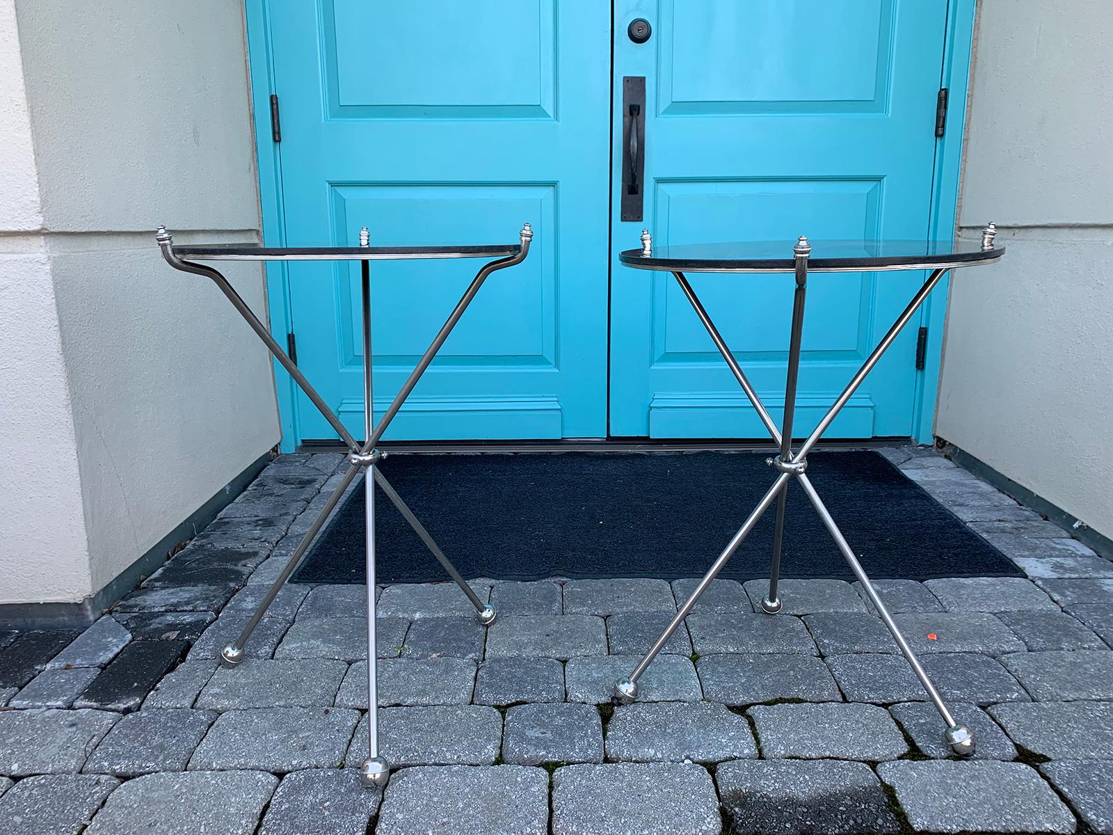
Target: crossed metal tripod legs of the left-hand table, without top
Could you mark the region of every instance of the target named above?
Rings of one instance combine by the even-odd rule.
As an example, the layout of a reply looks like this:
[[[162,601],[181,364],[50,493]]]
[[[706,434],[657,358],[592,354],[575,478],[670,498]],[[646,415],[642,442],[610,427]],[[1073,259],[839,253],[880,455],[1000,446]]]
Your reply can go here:
[[[467,584],[449,558],[445,557],[444,552],[433,540],[433,537],[430,536],[429,531],[425,530],[425,527],[418,521],[417,517],[414,515],[413,511],[410,510],[394,488],[391,487],[386,477],[383,475],[376,466],[376,463],[380,459],[384,458],[386,453],[375,449],[375,444],[378,443],[383,433],[386,432],[387,428],[391,425],[391,421],[393,421],[397,415],[398,410],[402,409],[406,397],[410,396],[414,386],[417,385],[417,381],[421,380],[422,374],[425,373],[430,363],[433,362],[436,353],[441,350],[441,346],[444,344],[445,340],[447,340],[449,334],[452,333],[453,327],[455,327],[460,317],[475,297],[475,294],[479,293],[480,287],[483,286],[487,276],[498,269],[512,267],[525,259],[525,256],[530,252],[530,240],[533,237],[530,224],[525,224],[520,233],[520,237],[521,249],[515,255],[490,262],[484,265],[479,273],[476,273],[471,284],[469,284],[467,289],[464,291],[464,294],[456,303],[456,306],[452,310],[452,313],[449,314],[444,325],[442,325],[436,336],[433,337],[433,342],[430,343],[425,353],[422,354],[421,360],[417,361],[414,370],[402,384],[398,393],[395,395],[394,400],[391,401],[390,406],[387,406],[386,412],[383,414],[377,424],[374,422],[372,397],[370,267],[366,259],[359,262],[363,313],[364,436],[366,439],[363,444],[359,444],[352,436],[352,433],[347,431],[339,418],[325,404],[322,396],[316,392],[309,381],[306,380],[305,375],[302,374],[286,352],[282,350],[275,338],[270,335],[266,325],[258,320],[254,312],[252,312],[250,307],[248,307],[239,294],[236,293],[235,288],[228,283],[227,278],[213,267],[204,264],[197,264],[195,262],[183,261],[175,255],[171,248],[173,238],[165,228],[159,228],[159,233],[156,235],[156,239],[162,249],[162,257],[170,264],[170,266],[186,273],[204,275],[211,278],[213,282],[216,283],[217,287],[219,287],[225,296],[228,297],[228,301],[230,301],[236,307],[240,316],[244,317],[247,324],[250,325],[252,330],[255,331],[258,337],[267,346],[267,350],[282,364],[282,366],[289,372],[294,382],[297,383],[302,391],[305,392],[306,396],[308,396],[322,415],[324,415],[325,420],[327,420],[332,428],[336,431],[336,434],[339,435],[344,444],[348,448],[347,460],[349,465],[347,471],[344,473],[344,477],[341,479],[341,483],[328,497],[325,505],[322,508],[316,519],[313,520],[313,523],[302,538],[302,541],[298,542],[294,553],[283,567],[282,572],[270,584],[270,588],[267,589],[266,595],[264,595],[258,608],[256,608],[256,610],[252,613],[247,625],[240,631],[239,637],[221,650],[220,660],[226,667],[235,667],[244,660],[244,645],[247,644],[247,640],[252,637],[252,633],[258,626],[259,620],[274,602],[274,599],[278,595],[282,587],[297,570],[298,566],[302,564],[302,560],[308,551],[309,546],[316,539],[317,533],[321,531],[329,514],[336,508],[341,497],[344,495],[344,492],[352,484],[356,474],[361,470],[366,471],[364,477],[364,504],[367,520],[365,529],[367,561],[367,758],[359,767],[359,780],[365,786],[385,786],[390,777],[390,765],[385,758],[380,756],[378,753],[378,688],[376,671],[376,658],[378,654],[375,635],[375,484],[378,484],[380,489],[382,489],[382,491],[386,494],[387,499],[390,499],[394,507],[397,508],[398,512],[410,523],[430,551],[432,551],[437,562],[444,567],[445,571],[449,572],[449,576],[464,592],[472,606],[475,607],[476,617],[480,623],[483,626],[490,626],[494,622],[496,616],[492,606],[480,600],[475,591]],[[364,227],[364,229],[359,233],[359,245],[370,246],[370,237],[366,227]]]

